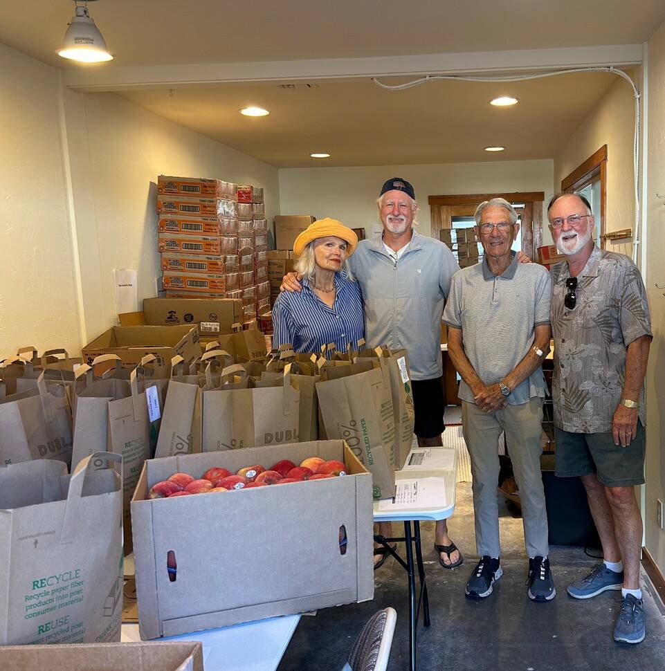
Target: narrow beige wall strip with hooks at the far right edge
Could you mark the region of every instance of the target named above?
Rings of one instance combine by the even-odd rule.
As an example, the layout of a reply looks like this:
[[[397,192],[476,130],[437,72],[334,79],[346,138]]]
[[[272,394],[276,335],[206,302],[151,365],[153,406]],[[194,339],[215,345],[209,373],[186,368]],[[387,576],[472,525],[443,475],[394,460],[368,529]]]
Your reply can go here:
[[[653,343],[646,381],[646,547],[665,574],[665,532],[656,524],[656,500],[665,501],[665,24],[648,42],[648,156],[646,288]]]

